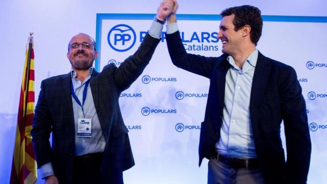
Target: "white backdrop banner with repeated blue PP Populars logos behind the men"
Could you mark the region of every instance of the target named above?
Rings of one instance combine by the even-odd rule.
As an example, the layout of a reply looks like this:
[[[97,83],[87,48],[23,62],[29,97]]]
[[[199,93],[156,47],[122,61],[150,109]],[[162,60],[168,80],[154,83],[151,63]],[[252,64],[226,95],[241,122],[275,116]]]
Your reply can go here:
[[[146,35],[154,14],[97,14],[101,71],[132,55]],[[258,49],[295,68],[307,102],[312,157],[308,182],[327,183],[327,18],[263,16]],[[188,53],[220,56],[220,16],[178,15]],[[164,28],[165,31],[165,28]],[[121,94],[120,105],[136,165],[124,172],[126,183],[206,183],[207,160],[198,167],[200,123],[209,80],[174,66],[165,32],[143,74]],[[281,136],[285,145],[284,130]],[[284,146],[285,147],[285,146]],[[286,149],[285,149],[286,150]]]

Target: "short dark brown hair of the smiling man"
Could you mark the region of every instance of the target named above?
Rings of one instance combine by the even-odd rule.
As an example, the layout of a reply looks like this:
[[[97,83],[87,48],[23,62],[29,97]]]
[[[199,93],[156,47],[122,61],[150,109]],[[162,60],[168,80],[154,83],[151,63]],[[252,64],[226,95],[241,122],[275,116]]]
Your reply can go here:
[[[235,31],[238,31],[245,25],[251,27],[250,38],[251,41],[256,45],[261,37],[262,33],[262,17],[259,8],[250,5],[243,5],[238,7],[227,8],[220,13],[222,17],[235,15],[233,24]]]

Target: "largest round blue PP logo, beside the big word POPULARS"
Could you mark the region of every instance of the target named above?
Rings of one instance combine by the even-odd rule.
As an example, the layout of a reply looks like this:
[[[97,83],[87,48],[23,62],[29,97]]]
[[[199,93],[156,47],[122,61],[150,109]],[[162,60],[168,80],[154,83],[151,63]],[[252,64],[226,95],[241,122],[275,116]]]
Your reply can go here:
[[[110,47],[118,52],[130,50],[136,41],[135,31],[128,25],[116,25],[108,33]]]

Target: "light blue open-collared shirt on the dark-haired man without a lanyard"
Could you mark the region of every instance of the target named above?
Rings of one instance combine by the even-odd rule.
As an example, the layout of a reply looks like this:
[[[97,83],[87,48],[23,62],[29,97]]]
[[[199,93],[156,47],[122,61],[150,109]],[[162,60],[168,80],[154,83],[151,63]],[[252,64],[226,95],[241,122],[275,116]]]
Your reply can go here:
[[[231,56],[226,74],[223,123],[218,152],[238,158],[256,157],[250,117],[250,95],[258,50],[255,50],[240,69]]]

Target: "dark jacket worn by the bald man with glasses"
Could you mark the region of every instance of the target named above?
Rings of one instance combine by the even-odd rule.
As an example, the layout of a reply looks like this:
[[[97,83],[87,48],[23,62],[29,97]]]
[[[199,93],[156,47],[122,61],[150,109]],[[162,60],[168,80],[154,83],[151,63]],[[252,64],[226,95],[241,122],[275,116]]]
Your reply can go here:
[[[121,173],[134,165],[128,130],[123,122],[119,97],[142,74],[159,39],[147,34],[134,55],[119,68],[109,64],[90,78],[93,100],[105,136],[101,173],[105,177]],[[59,183],[73,183],[75,124],[71,96],[71,73],[45,79],[33,119],[33,147],[38,167],[52,163]],[[52,136],[52,148],[49,137]]]

